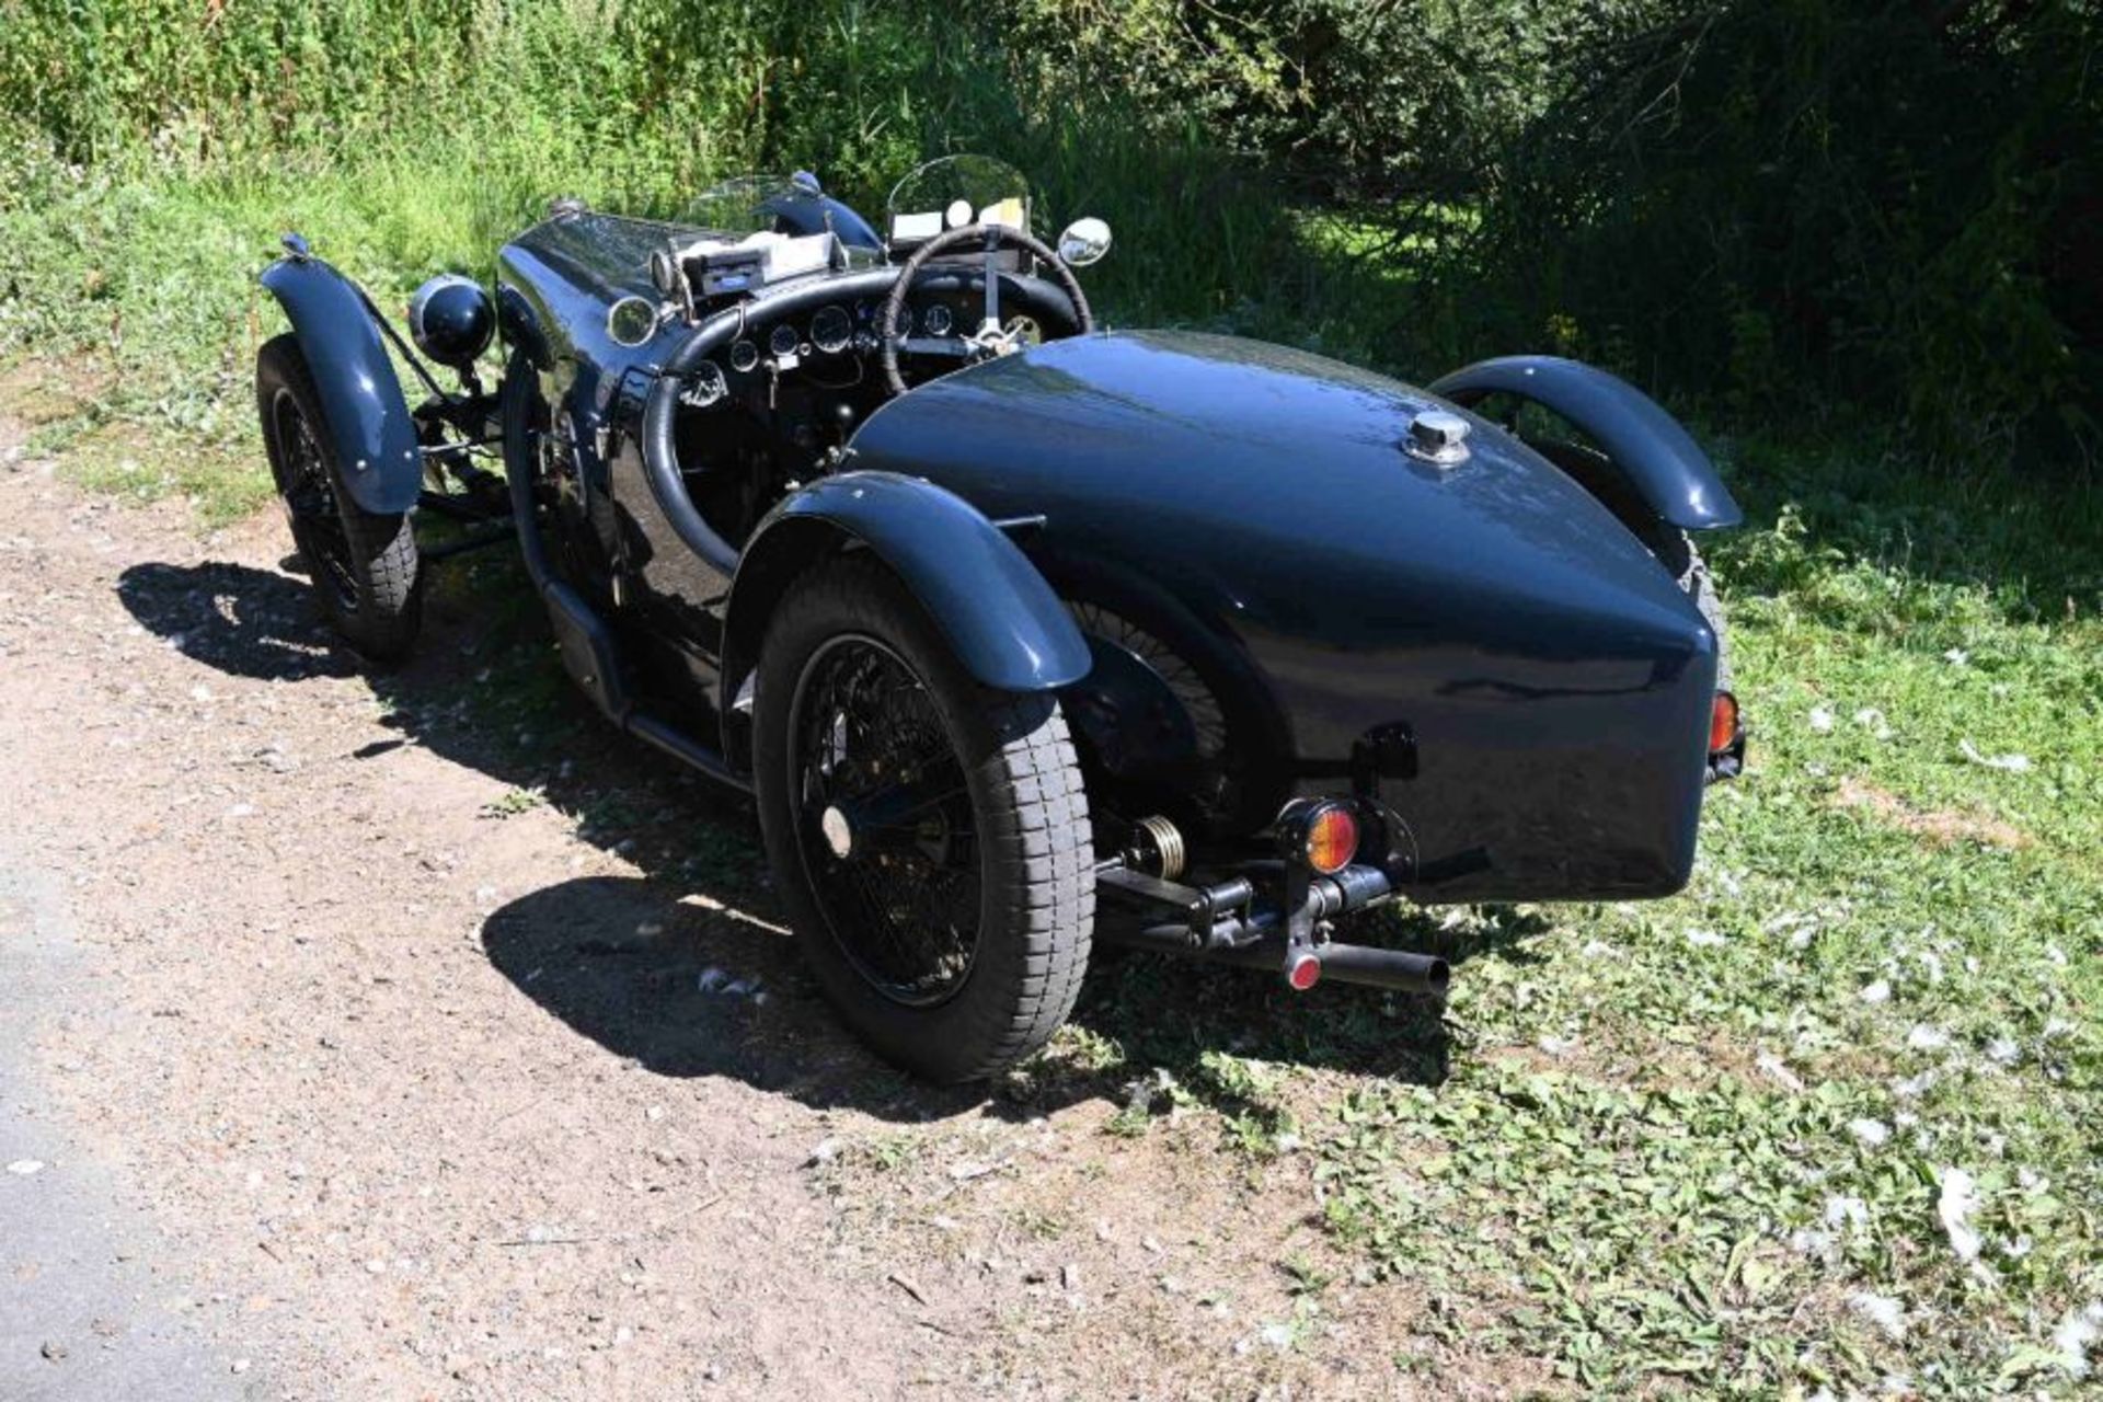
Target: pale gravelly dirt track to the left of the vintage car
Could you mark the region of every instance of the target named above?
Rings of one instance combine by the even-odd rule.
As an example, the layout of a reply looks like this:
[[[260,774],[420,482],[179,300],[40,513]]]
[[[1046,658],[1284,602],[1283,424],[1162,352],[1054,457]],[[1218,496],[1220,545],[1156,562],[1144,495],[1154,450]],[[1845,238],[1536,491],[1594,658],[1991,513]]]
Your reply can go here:
[[[82,950],[17,1070],[160,1228],[156,1299],[227,1389],[1392,1391],[1392,1286],[1295,1318],[1302,1162],[869,1059],[770,925],[738,803],[553,689],[505,710],[507,666],[553,664],[492,641],[486,586],[440,591],[374,685],[275,519],[200,538],[17,460],[0,523],[0,860]],[[0,1310],[44,1270],[4,1228],[67,1171],[0,1177]],[[59,1343],[0,1379],[95,1396],[126,1347]]]

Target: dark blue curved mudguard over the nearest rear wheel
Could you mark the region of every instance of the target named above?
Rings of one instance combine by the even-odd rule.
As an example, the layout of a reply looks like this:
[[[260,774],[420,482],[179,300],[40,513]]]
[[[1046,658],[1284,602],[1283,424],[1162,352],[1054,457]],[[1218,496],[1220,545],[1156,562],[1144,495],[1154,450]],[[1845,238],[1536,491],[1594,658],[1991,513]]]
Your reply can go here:
[[[875,551],[980,683],[1054,692],[1087,675],[1081,628],[999,525],[932,481],[841,473],[782,500],[747,542],[730,586],[726,687],[742,681],[774,601],[822,536]]]

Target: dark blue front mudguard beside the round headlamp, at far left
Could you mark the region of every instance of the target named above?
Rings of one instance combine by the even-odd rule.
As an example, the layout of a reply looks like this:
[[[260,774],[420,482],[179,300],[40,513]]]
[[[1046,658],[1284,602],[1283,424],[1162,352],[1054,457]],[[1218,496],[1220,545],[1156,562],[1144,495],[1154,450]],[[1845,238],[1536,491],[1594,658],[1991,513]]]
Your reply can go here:
[[[299,336],[351,500],[372,515],[408,511],[423,492],[423,450],[364,294],[313,254],[278,259],[263,286]]]

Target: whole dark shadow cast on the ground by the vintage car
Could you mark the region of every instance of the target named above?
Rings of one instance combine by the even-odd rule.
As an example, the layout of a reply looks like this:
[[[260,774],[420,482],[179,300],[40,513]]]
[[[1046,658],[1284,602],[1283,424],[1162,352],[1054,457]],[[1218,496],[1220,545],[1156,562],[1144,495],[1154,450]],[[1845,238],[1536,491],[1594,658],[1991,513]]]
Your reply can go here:
[[[233,561],[141,563],[118,593],[143,626],[229,675],[360,673],[307,586],[284,574]],[[423,746],[507,786],[482,813],[492,826],[545,805],[572,820],[580,841],[639,868],[526,872],[528,889],[488,916],[482,942],[522,994],[654,1074],[732,1076],[814,1108],[904,1122],[1129,1101],[1138,1080],[1163,1074],[1178,1093],[1241,1114],[1243,1089],[1218,1074],[1216,1053],[1445,1080],[1451,1034],[1426,998],[1331,986],[1291,994],[1258,973],[1127,956],[1089,975],[1075,1030],[1047,1055],[991,1089],[927,1087],[866,1053],[803,975],[774,914],[751,803],[604,723],[564,677],[515,563],[484,557],[435,576],[414,660],[368,683],[400,740],[343,759]],[[1544,927],[1506,912],[1455,940],[1426,914],[1377,919],[1390,925],[1386,942],[1455,963],[1527,958],[1525,940]]]

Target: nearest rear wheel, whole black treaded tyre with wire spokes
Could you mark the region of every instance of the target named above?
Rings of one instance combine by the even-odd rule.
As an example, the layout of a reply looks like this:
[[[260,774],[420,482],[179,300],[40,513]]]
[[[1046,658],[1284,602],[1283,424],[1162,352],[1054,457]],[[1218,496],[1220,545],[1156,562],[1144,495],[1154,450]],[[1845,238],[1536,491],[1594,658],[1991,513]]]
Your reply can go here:
[[[848,1026],[930,1080],[1037,1051],[1096,921],[1058,700],[986,692],[887,570],[841,559],[782,599],[753,704],[768,858]]]

